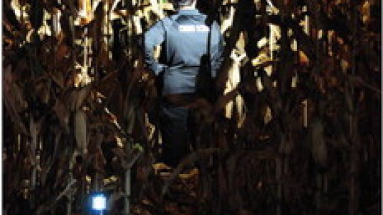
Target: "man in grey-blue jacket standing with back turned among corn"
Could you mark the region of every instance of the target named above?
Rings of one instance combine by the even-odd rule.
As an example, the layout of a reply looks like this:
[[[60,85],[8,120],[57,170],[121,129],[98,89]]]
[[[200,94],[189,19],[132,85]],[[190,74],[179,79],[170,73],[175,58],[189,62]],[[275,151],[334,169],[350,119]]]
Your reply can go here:
[[[194,98],[197,75],[207,72],[211,78],[216,77],[222,62],[223,37],[218,23],[209,22],[196,10],[196,0],[174,0],[172,4],[177,13],[152,25],[144,34],[144,45],[148,68],[156,76],[162,75],[162,160],[174,167],[187,153],[189,110],[170,98]],[[153,57],[156,45],[162,45],[165,54],[160,62]]]

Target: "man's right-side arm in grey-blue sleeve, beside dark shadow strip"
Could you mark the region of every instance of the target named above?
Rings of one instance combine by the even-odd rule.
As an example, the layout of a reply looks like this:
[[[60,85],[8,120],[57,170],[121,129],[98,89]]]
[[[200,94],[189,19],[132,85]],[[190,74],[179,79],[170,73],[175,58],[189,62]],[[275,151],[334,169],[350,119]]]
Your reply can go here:
[[[211,33],[216,43],[211,46],[211,76],[216,78],[218,70],[223,62],[223,35],[218,23],[213,22]]]

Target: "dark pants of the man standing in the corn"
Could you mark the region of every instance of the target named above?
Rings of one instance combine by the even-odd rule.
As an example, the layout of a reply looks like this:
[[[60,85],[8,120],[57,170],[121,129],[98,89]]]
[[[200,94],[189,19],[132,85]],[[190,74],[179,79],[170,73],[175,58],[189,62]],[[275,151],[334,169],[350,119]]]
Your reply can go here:
[[[162,133],[162,162],[175,167],[188,152],[189,109],[161,102],[159,117]]]

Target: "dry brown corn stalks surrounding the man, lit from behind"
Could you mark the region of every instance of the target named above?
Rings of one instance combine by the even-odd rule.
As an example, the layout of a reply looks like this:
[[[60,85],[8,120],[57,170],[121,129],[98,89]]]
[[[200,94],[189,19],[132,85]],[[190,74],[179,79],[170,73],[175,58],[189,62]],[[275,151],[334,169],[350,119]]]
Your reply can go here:
[[[190,105],[194,151],[162,177],[140,41],[172,5],[3,1],[3,214],[87,214],[94,191],[108,214],[381,213],[381,1],[197,8],[224,62],[215,99]]]

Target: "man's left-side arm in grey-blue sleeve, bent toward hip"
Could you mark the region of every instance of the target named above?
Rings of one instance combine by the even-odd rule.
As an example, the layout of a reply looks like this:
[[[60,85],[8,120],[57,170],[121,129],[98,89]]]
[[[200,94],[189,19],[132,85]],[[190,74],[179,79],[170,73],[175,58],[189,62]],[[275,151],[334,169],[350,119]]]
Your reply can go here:
[[[148,68],[157,76],[164,69],[165,65],[158,63],[153,57],[153,50],[156,45],[160,45],[165,40],[165,28],[162,21],[158,21],[155,25],[149,28],[145,32],[144,37],[144,48],[145,48],[145,63]]]

